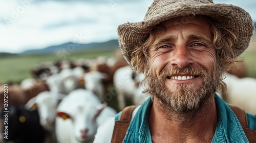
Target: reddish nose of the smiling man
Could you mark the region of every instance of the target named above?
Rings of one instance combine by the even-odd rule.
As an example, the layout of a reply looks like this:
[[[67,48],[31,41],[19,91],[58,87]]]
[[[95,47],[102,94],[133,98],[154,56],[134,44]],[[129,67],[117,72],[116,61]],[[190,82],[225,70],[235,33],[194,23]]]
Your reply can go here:
[[[170,63],[173,66],[178,66],[180,68],[184,68],[189,64],[193,64],[193,58],[191,57],[191,51],[188,49],[186,45],[177,45],[175,49],[172,51],[172,60]]]

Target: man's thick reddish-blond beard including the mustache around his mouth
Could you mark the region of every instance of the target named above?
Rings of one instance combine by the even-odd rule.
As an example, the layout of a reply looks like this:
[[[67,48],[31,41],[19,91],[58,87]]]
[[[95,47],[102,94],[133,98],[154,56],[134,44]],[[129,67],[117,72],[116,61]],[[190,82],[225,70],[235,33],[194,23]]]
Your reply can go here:
[[[176,114],[196,114],[203,103],[207,102],[210,97],[217,91],[220,83],[221,69],[219,66],[212,64],[211,75],[208,76],[205,68],[186,66],[185,68],[173,67],[163,70],[160,73],[160,79],[152,68],[148,68],[146,81],[150,87],[153,98],[160,101],[163,111]],[[216,67],[218,69],[216,69]],[[198,75],[203,79],[203,83],[199,89],[195,90],[195,85],[191,84],[175,84],[175,92],[170,91],[165,86],[165,80],[170,75],[178,73],[186,73],[187,75]]]

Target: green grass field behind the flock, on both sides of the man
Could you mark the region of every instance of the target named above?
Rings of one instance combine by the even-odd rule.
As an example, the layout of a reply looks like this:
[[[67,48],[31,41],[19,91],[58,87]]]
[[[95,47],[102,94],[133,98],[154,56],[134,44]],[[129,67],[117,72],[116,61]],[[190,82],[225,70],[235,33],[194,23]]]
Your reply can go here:
[[[72,52],[59,56],[57,54],[47,55],[19,55],[13,57],[0,57],[0,82],[19,83],[25,78],[31,77],[30,69],[36,67],[41,62],[54,62],[56,60],[67,59],[91,59],[98,56],[114,56],[112,50],[91,50],[82,52]],[[241,55],[248,68],[248,76],[256,78],[256,35],[253,35],[248,49]]]

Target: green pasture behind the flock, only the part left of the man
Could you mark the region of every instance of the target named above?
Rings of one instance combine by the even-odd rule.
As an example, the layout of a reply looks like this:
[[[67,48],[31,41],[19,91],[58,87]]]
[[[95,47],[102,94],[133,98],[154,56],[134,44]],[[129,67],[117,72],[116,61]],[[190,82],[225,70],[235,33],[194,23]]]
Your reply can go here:
[[[31,77],[30,69],[37,67],[43,62],[54,62],[69,59],[93,59],[98,56],[114,56],[113,50],[88,50],[59,54],[42,55],[18,55],[0,57],[0,83],[20,83],[25,78]]]

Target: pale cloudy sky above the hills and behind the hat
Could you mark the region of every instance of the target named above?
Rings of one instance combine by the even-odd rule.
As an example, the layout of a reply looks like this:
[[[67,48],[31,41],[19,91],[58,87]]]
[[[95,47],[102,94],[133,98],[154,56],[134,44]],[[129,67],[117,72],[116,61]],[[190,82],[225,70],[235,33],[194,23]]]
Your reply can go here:
[[[0,52],[20,53],[67,42],[117,39],[117,27],[142,21],[153,0],[0,0]],[[242,7],[256,21],[254,0],[214,0]]]

